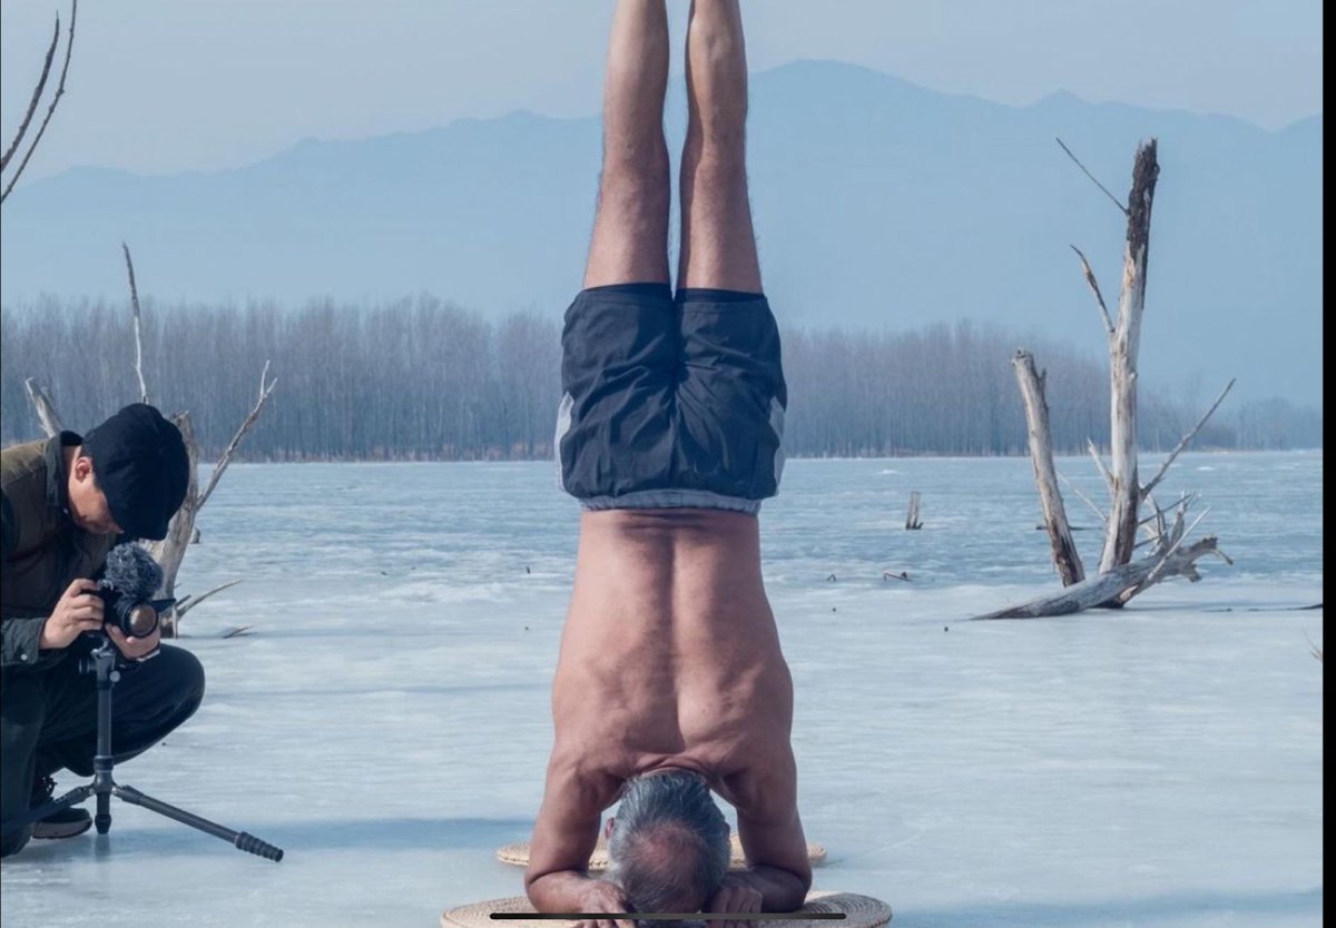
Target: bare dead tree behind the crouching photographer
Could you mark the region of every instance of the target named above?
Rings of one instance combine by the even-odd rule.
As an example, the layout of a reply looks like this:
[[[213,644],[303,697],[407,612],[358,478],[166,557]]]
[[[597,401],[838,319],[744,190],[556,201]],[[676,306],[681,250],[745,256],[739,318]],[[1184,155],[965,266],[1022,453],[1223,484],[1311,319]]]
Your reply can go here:
[[[134,312],[135,328],[135,375],[139,381],[140,402],[147,402],[148,386],[144,381],[143,373],[143,332],[140,327],[139,290],[135,283],[135,264],[130,255],[130,247],[124,243],[122,243],[120,247],[126,255],[126,271],[130,276],[131,308]],[[172,422],[176,423],[176,427],[180,429],[182,439],[186,443],[186,455],[190,461],[190,477],[186,485],[186,498],[182,502],[180,509],[176,510],[176,514],[172,515],[171,522],[167,525],[167,537],[162,541],[146,542],[144,545],[163,570],[163,585],[159,590],[159,596],[164,598],[176,596],[176,575],[180,571],[182,561],[186,558],[186,551],[188,550],[191,541],[198,534],[195,529],[195,517],[212,495],[214,489],[218,486],[218,481],[222,479],[223,474],[227,471],[227,466],[231,463],[232,455],[236,454],[236,449],[240,447],[242,441],[244,441],[246,435],[255,427],[261,410],[265,409],[265,403],[269,402],[270,394],[273,394],[277,385],[278,379],[269,377],[269,362],[266,361],[265,369],[259,375],[259,397],[257,398],[250,414],[236,429],[231,442],[228,442],[223,454],[219,457],[203,493],[199,491],[199,482],[196,479],[199,470],[199,443],[195,441],[195,430],[190,421],[190,413],[178,413],[171,417]],[[28,397],[32,401],[33,407],[37,410],[37,418],[41,422],[43,431],[45,431],[48,437],[57,434],[60,431],[60,417],[56,414],[55,403],[51,402],[51,398],[33,379],[29,378],[25,386],[28,389]],[[239,582],[239,579],[234,579],[215,586],[200,596],[182,597],[172,610],[163,617],[163,637],[176,637],[180,620],[187,612],[215,593],[226,590],[230,586],[235,586]]]

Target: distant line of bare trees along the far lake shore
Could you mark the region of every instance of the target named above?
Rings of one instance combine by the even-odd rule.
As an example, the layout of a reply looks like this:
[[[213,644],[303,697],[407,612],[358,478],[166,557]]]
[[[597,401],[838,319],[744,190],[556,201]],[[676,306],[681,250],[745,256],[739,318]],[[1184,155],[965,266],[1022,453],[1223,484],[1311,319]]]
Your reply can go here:
[[[782,332],[794,457],[1025,454],[1011,355],[1047,370],[1054,447],[1108,437],[1102,358],[995,326],[910,332]],[[243,454],[253,461],[550,458],[560,399],[560,323],[532,312],[489,322],[433,296],[378,306],[313,302],[167,306],[146,302],[150,401],[190,410],[216,454],[254,405],[266,359],[278,389]],[[0,433],[40,437],[24,381],[35,378],[71,429],[136,394],[134,332],[122,303],[39,302],[0,312]],[[1169,449],[1209,398],[1142,390],[1146,450]],[[1320,447],[1321,414],[1285,401],[1225,407],[1196,447]]]

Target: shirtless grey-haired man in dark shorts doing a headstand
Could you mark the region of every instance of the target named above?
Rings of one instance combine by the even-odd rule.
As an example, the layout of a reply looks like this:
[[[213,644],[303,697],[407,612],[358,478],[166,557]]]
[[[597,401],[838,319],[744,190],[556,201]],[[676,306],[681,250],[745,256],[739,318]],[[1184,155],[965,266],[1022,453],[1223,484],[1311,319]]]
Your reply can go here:
[[[747,199],[737,0],[691,8],[676,294],[667,83],[664,0],[617,0],[599,210],[562,331],[561,483],[584,511],[525,875],[542,912],[784,912],[811,885],[760,570],[787,394]],[[712,793],[736,809],[743,871]]]

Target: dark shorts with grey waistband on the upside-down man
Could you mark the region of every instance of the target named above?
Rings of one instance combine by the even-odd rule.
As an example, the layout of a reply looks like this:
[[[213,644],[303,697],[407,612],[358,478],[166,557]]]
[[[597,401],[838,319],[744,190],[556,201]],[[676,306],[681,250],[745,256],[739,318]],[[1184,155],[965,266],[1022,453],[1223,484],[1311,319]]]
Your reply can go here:
[[[585,290],[561,347],[558,481],[585,509],[756,513],[778,493],[788,395],[764,296]]]

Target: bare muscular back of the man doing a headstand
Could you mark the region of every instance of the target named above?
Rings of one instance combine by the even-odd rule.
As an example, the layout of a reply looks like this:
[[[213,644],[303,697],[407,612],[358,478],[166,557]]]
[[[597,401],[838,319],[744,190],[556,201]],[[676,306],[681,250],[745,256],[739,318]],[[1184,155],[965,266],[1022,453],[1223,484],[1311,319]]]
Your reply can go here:
[[[585,513],[553,714],[557,753],[611,781],[687,768],[737,804],[748,770],[787,766],[792,684],[758,519]]]

